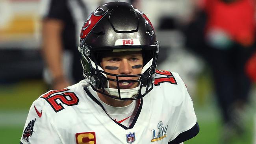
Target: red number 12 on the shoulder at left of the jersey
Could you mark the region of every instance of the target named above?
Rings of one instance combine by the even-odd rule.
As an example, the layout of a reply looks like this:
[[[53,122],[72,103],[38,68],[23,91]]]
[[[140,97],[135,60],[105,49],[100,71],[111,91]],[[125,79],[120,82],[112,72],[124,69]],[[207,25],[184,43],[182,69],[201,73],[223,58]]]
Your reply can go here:
[[[74,92],[64,92],[62,94],[55,94],[57,92],[63,92],[67,90],[69,89],[53,90],[41,96],[41,98],[44,98],[52,106],[54,111],[57,113],[64,109],[61,103],[64,103],[65,105],[68,105],[68,106],[72,106],[72,105],[77,105],[79,102],[79,99],[76,96],[76,94],[74,94]],[[60,100],[61,103],[58,103],[56,100]]]

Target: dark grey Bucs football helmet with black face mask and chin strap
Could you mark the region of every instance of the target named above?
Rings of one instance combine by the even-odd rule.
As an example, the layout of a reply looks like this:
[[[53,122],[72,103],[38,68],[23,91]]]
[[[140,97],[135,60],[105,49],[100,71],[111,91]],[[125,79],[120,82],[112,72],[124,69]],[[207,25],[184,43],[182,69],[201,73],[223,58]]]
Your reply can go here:
[[[83,76],[89,79],[96,92],[119,100],[135,100],[153,89],[159,44],[147,16],[131,4],[110,2],[99,6],[83,24],[78,50],[82,55]],[[111,74],[100,67],[102,54],[126,50],[141,50],[141,74]],[[116,79],[108,76],[115,76]],[[139,79],[120,79],[124,77]],[[115,81],[117,89],[109,88],[109,81]],[[137,82],[139,85],[133,89],[120,89],[119,83],[124,82]]]

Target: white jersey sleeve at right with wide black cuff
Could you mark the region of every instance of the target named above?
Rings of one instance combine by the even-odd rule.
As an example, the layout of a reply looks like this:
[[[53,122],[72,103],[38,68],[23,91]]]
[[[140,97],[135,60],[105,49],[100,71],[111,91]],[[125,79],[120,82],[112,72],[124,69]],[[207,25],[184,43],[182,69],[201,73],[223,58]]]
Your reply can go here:
[[[183,85],[184,100],[181,104],[180,114],[175,126],[173,137],[168,144],[180,144],[190,138],[195,137],[199,133],[197,117],[195,115],[193,101],[187,92],[186,85],[178,76],[180,84]]]

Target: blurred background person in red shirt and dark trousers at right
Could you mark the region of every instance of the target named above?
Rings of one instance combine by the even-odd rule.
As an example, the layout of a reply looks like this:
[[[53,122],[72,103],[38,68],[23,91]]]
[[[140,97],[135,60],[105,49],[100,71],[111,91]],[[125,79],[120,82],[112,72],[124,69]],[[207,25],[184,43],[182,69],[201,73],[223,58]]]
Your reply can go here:
[[[245,130],[243,113],[251,88],[245,64],[255,47],[255,1],[197,2],[201,11],[187,28],[187,45],[211,68],[224,122],[221,139],[230,143]]]

